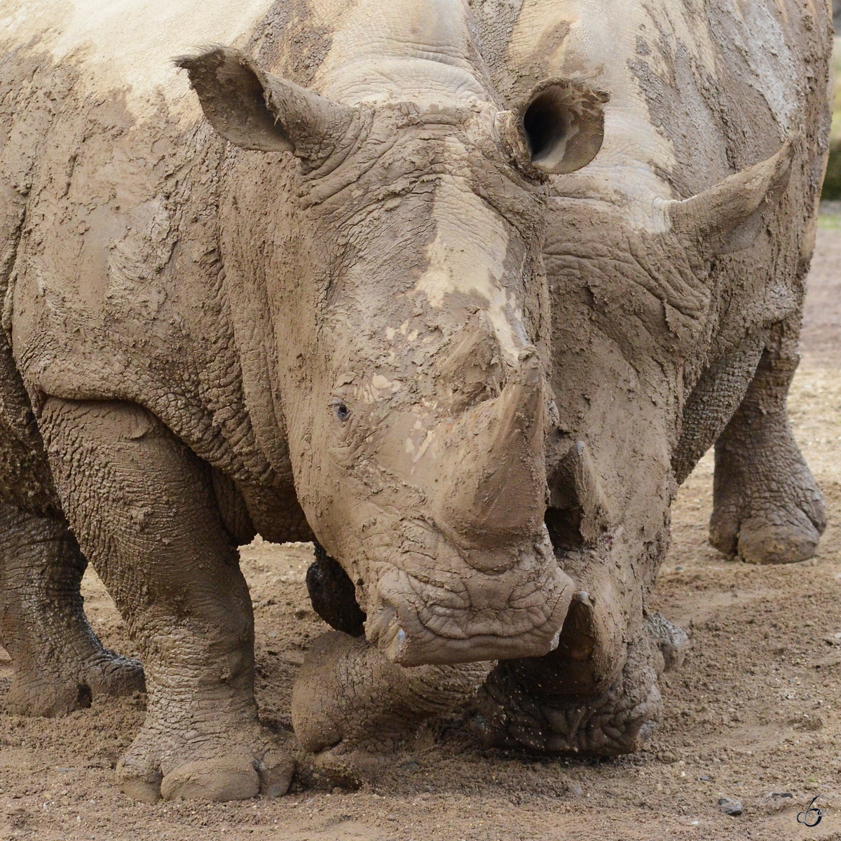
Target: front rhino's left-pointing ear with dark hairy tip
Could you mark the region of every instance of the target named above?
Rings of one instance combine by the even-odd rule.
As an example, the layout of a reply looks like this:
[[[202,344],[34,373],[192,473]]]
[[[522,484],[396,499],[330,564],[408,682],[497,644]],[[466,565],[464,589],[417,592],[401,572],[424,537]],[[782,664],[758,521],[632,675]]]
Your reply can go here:
[[[216,46],[175,59],[190,77],[209,123],[244,149],[309,158],[344,135],[353,109],[255,66],[239,50]]]

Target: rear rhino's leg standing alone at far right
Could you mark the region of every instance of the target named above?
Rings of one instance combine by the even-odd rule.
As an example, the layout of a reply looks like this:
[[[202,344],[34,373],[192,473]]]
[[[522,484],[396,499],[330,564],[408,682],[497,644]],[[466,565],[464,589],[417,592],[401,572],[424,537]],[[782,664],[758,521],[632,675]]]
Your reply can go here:
[[[811,558],[827,524],[785,407],[798,332],[791,324],[771,332],[747,394],[716,442],[710,542],[750,563]]]

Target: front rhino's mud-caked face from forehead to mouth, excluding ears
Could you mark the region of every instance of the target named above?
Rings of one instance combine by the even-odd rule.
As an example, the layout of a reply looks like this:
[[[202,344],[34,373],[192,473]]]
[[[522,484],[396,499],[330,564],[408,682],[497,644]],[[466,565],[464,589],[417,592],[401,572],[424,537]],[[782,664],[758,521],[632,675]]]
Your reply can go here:
[[[398,140],[329,216],[352,246],[330,272],[299,494],[400,663],[545,653],[570,593],[542,521],[540,186],[487,110],[377,119]]]

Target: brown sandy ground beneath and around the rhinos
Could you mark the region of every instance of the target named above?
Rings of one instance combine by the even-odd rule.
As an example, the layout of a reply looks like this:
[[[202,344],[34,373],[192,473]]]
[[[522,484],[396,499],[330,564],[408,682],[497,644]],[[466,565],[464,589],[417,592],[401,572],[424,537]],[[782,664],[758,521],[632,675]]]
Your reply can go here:
[[[694,648],[663,683],[665,718],[640,754],[534,761],[484,752],[458,717],[427,727],[394,775],[361,791],[304,790],[274,801],[135,803],[114,764],[144,699],[100,699],[62,719],[0,715],[0,838],[841,839],[841,215],[825,217],[810,278],[804,358],[791,395],[796,436],[827,496],[817,558],[780,568],[727,561],[706,543],[711,457],[674,505],[674,542],[656,606]],[[296,670],[325,625],[309,607],[309,544],[242,550],[257,616],[262,717],[288,735]],[[93,625],[133,653],[95,575]],[[0,705],[10,669],[0,649]],[[740,817],[717,807],[727,796]],[[812,798],[815,828],[796,816]]]

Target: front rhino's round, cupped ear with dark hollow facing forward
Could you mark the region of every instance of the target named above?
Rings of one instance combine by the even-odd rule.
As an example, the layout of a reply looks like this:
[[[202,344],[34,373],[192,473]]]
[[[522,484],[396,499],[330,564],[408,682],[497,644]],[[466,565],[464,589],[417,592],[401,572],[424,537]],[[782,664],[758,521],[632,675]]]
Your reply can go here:
[[[501,112],[498,124],[522,168],[563,175],[600,150],[609,99],[583,82],[551,79],[534,88],[518,114]]]

